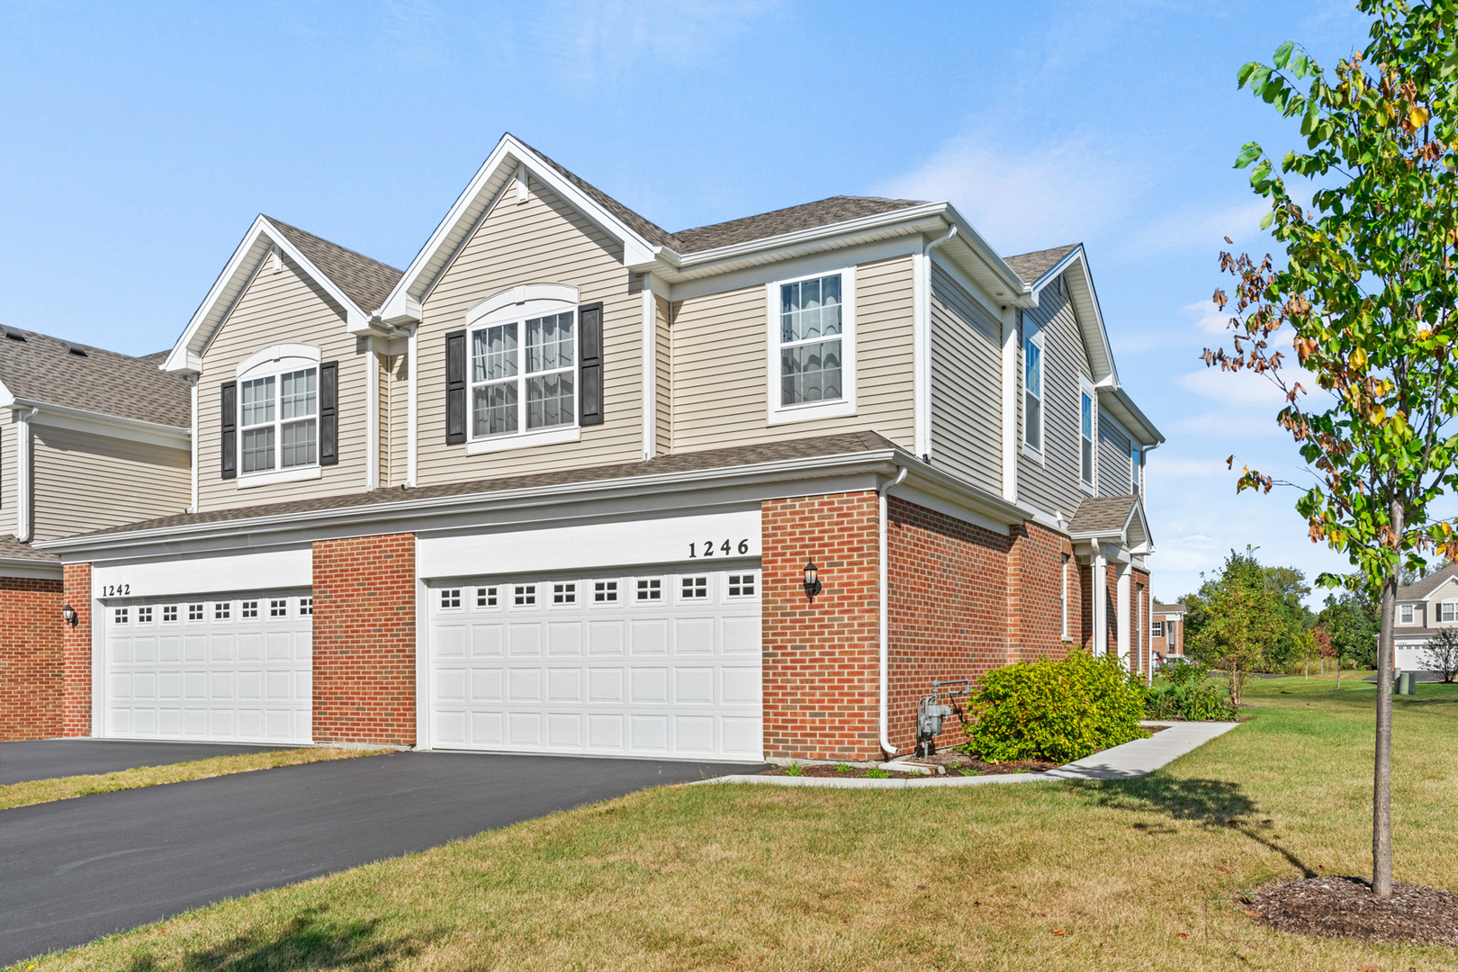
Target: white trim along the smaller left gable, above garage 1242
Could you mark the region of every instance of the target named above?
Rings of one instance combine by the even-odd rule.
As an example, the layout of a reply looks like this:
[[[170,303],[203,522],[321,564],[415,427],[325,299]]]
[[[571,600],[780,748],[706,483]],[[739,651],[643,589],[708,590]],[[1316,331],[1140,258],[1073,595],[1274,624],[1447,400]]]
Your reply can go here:
[[[264,261],[274,249],[287,254],[311,280],[319,284],[324,293],[330,294],[335,303],[344,307],[346,328],[348,331],[357,332],[369,328],[370,315],[356,306],[297,246],[289,242],[289,238],[278,227],[260,216],[248,227],[243,240],[227,259],[227,265],[223,267],[223,273],[219,274],[211,290],[207,291],[207,297],[203,299],[201,306],[198,306],[192,319],[188,321],[187,328],[182,329],[182,337],[172,345],[172,353],[162,363],[163,372],[201,370],[203,351],[207,348],[208,341],[213,340],[213,335],[217,334],[217,329],[233,312],[233,307],[238,306],[238,300],[248,290],[248,286],[258,275]]]

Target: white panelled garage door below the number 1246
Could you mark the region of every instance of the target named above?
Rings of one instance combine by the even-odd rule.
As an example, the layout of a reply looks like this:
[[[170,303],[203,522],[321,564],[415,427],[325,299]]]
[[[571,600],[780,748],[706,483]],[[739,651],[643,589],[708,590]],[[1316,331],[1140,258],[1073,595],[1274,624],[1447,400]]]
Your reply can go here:
[[[432,745],[760,759],[760,571],[430,589]]]

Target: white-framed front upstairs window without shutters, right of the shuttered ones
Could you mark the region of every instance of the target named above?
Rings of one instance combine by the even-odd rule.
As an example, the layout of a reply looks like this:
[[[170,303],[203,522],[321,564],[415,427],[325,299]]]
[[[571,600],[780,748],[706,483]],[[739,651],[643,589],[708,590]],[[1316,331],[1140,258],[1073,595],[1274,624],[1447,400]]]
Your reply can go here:
[[[770,424],[856,411],[853,268],[768,284]]]

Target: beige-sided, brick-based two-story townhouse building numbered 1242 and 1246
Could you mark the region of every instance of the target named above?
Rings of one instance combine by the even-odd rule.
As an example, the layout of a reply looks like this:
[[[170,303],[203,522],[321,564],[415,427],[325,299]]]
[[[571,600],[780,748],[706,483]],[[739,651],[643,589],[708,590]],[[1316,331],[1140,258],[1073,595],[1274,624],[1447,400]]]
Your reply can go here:
[[[948,203],[669,233],[507,136],[402,274],[260,217],[163,367],[192,510],[45,545],[79,734],[869,758],[935,679],[1149,669],[1083,248]]]

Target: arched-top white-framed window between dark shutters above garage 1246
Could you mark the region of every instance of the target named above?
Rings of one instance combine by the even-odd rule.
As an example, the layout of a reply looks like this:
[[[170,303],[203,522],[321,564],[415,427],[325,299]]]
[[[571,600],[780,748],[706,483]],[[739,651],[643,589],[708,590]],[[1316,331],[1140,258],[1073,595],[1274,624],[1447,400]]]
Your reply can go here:
[[[577,439],[576,290],[513,289],[483,302],[467,319],[468,447],[491,452]]]

